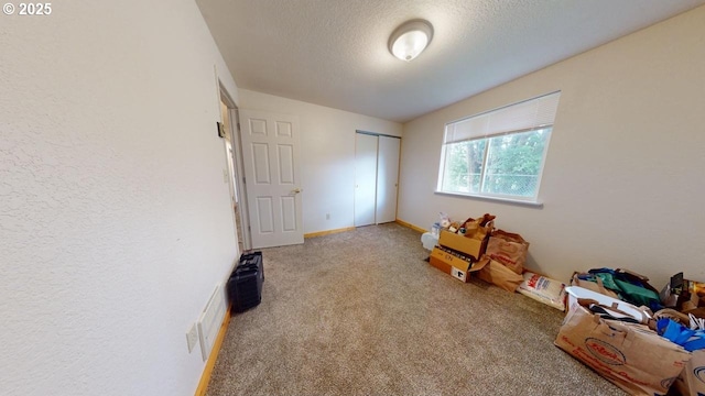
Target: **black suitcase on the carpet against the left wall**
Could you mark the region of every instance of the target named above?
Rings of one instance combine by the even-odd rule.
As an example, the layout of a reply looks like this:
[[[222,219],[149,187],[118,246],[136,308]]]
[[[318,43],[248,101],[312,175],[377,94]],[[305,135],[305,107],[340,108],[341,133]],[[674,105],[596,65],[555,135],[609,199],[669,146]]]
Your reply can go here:
[[[242,254],[228,279],[228,297],[232,304],[232,310],[242,312],[258,306],[262,301],[263,282],[262,252]]]

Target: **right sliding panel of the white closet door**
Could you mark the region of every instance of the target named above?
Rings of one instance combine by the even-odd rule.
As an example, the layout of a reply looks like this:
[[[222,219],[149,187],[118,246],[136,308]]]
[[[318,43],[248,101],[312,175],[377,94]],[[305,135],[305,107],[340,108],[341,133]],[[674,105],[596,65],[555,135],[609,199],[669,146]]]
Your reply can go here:
[[[379,136],[377,151],[377,215],[378,224],[397,220],[397,185],[399,183],[398,138]]]

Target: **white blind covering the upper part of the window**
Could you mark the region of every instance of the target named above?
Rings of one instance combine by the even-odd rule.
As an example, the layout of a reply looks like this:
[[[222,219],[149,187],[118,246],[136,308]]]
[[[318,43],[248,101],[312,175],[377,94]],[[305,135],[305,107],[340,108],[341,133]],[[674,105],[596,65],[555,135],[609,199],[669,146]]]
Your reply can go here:
[[[553,125],[561,92],[549,94],[446,124],[443,143]]]

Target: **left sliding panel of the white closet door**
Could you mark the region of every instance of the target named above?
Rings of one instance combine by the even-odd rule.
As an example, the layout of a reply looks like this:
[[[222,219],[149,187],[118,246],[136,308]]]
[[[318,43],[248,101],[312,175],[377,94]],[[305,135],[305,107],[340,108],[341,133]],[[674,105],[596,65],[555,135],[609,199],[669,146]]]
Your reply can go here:
[[[355,134],[355,227],[375,224],[377,136]]]

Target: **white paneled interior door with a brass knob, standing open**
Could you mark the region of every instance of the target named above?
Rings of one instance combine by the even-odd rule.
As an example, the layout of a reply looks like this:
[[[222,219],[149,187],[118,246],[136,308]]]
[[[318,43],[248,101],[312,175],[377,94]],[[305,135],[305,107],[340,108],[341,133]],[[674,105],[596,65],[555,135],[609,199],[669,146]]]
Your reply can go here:
[[[240,110],[252,249],[304,242],[299,119]]]

